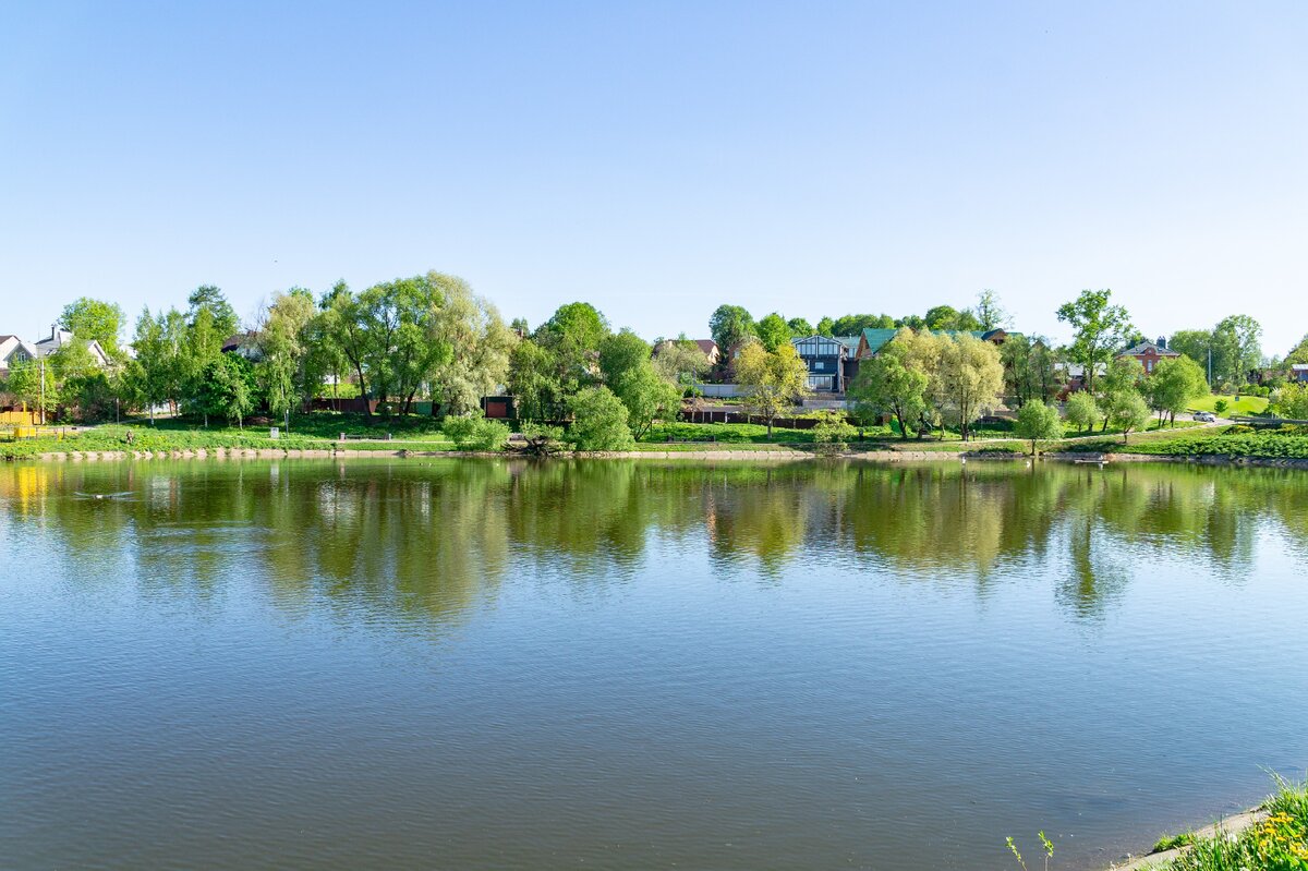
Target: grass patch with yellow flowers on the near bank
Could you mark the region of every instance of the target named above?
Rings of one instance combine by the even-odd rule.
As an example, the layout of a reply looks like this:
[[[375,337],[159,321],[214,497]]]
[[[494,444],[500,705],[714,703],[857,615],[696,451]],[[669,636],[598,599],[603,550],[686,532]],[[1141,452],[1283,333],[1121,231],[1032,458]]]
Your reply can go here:
[[[1308,868],[1308,790],[1278,779],[1267,819],[1235,837],[1194,838],[1160,871],[1301,871]],[[1185,836],[1179,836],[1185,837]]]

